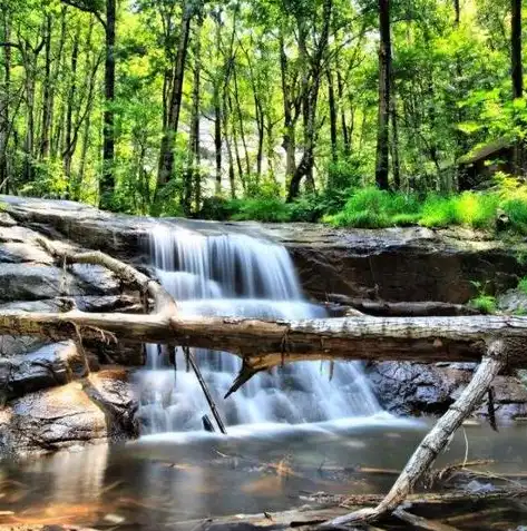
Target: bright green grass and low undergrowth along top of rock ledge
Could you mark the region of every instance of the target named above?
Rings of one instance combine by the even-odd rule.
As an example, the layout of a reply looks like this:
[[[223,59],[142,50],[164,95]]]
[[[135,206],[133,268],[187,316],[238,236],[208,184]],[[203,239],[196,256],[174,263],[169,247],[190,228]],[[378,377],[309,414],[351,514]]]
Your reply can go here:
[[[387,191],[352,184],[285,203],[280,194],[206,199],[199,217],[257,222],[319,222],[334,227],[463,226],[527,235],[527,186],[507,176],[495,188],[441,196]]]

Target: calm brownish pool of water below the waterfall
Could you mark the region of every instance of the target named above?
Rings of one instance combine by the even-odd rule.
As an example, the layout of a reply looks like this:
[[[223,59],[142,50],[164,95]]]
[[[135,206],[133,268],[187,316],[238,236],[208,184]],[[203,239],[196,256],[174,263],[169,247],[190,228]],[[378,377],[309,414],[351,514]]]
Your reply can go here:
[[[227,437],[164,433],[123,445],[97,445],[23,462],[0,463],[0,523],[68,523],[98,529],[169,529],[211,515],[280,511],[302,495],[383,493],[428,430],[424,421],[374,419],[246,425]],[[527,471],[527,425],[460,430],[438,465],[494,459],[495,472]],[[527,512],[510,512],[516,529]],[[490,522],[490,520],[489,520]],[[462,528],[459,529],[468,529]],[[487,529],[485,525],[470,529]]]

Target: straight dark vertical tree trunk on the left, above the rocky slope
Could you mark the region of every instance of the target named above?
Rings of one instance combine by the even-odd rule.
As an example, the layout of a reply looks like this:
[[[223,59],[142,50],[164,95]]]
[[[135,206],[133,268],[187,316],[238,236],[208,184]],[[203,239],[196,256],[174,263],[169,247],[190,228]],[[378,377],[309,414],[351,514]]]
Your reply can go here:
[[[99,181],[99,206],[106,210],[114,208],[115,191],[115,45],[116,45],[116,0],[106,0],[106,57],[105,57],[105,111],[103,127],[103,175]]]

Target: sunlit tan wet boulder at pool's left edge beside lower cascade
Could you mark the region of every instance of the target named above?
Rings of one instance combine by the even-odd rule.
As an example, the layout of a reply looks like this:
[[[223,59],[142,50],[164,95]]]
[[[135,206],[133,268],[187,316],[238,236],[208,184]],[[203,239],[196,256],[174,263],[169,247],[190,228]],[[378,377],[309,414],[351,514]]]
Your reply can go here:
[[[43,453],[135,436],[129,419],[134,404],[121,370],[31,393],[0,410],[0,454]]]

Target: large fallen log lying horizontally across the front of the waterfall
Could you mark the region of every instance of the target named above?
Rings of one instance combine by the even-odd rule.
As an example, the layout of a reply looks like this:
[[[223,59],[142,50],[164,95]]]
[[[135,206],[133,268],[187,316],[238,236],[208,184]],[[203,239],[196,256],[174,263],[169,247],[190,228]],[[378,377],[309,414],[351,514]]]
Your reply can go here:
[[[265,370],[309,360],[478,362],[495,338],[514,340],[507,365],[527,367],[527,317],[339,317],[260,321],[121,313],[0,312],[0,334],[176,343],[228,351]]]

